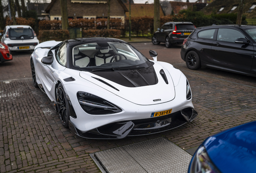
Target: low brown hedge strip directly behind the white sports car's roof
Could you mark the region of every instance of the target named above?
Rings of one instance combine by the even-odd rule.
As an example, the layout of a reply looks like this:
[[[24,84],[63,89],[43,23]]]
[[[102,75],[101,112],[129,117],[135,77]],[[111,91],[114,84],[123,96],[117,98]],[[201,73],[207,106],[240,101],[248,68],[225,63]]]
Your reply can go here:
[[[112,37],[112,38],[120,38],[121,31],[120,30],[83,30],[83,37]]]

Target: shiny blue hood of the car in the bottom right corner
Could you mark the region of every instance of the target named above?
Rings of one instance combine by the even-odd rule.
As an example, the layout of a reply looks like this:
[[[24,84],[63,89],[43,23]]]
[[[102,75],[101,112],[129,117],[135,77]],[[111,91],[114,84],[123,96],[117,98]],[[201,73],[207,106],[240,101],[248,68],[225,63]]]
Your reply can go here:
[[[222,173],[256,172],[256,121],[213,135],[203,145]]]

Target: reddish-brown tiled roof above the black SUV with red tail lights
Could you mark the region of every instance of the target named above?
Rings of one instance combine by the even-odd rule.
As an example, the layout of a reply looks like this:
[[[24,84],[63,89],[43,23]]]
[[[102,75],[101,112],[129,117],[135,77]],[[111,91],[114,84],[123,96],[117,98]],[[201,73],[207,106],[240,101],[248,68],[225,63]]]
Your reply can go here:
[[[175,1],[170,1],[171,8],[168,10],[173,11],[174,14],[178,14],[180,10],[187,10],[191,9],[196,11],[200,11],[202,8],[204,8],[207,3],[200,3],[200,2],[175,2]],[[196,8],[195,8],[196,7]]]

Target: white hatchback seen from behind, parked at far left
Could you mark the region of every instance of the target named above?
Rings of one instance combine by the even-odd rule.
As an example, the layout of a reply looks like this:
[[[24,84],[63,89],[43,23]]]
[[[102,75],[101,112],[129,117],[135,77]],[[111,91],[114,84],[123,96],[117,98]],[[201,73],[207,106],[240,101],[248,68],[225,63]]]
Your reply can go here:
[[[39,44],[35,31],[29,25],[6,26],[1,41],[7,44],[11,51],[34,50]]]

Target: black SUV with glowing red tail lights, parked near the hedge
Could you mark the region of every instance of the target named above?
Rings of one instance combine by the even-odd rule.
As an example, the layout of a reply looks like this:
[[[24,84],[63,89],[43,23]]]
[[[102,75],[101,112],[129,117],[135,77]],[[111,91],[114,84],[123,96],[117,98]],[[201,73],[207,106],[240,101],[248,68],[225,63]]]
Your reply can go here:
[[[157,28],[152,43],[164,42],[167,48],[171,47],[171,44],[182,44],[195,28],[191,22],[166,22],[161,28]]]

